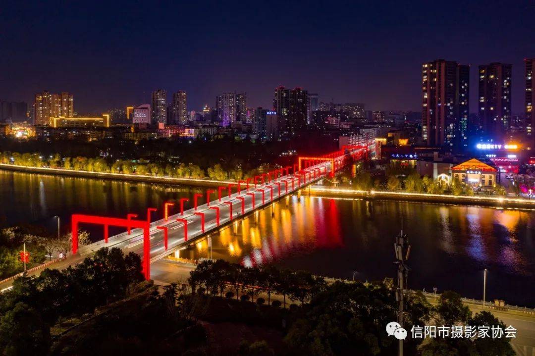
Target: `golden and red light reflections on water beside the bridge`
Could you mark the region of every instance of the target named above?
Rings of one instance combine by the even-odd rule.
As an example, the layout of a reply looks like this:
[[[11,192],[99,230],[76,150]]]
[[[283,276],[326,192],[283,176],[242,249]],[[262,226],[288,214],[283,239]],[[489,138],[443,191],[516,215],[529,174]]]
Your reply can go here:
[[[282,199],[235,221],[212,241],[214,258],[230,256],[244,265],[259,265],[295,251],[341,246],[340,214],[334,199],[292,196],[288,203]],[[192,258],[208,257],[207,248],[197,243]]]

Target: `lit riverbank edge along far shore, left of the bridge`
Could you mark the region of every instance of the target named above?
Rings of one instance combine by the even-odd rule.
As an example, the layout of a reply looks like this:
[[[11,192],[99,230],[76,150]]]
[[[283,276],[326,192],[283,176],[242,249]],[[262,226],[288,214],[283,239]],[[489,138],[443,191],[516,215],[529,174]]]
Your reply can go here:
[[[189,178],[173,178],[150,175],[137,174],[121,174],[121,173],[99,173],[87,171],[74,171],[74,169],[62,168],[47,168],[47,167],[26,167],[18,165],[6,165],[0,163],[0,169],[5,171],[16,171],[24,173],[46,174],[46,175],[63,175],[69,177],[106,179],[113,181],[128,181],[128,182],[143,182],[143,183],[161,183],[161,184],[178,184],[178,185],[193,185],[196,187],[219,187],[220,185],[228,185],[234,183],[233,181],[216,181],[209,179],[189,179]]]

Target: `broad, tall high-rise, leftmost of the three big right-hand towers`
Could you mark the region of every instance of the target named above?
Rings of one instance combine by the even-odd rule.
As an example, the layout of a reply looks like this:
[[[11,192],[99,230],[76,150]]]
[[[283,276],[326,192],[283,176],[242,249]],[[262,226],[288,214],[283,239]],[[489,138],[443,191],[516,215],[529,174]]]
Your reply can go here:
[[[469,66],[444,59],[422,65],[422,137],[427,145],[467,145],[469,73]]]

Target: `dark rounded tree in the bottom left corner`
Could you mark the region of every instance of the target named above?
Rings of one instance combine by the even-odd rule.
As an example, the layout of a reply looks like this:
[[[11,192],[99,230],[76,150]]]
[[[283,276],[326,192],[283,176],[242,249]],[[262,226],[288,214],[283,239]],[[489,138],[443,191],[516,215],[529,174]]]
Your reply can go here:
[[[19,302],[0,319],[0,350],[4,355],[44,355],[49,346],[49,326],[34,308]]]

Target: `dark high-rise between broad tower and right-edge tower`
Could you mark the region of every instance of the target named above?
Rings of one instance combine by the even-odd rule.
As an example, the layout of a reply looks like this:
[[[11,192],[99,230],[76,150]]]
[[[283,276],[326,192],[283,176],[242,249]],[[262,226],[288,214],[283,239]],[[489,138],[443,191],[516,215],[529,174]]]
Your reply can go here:
[[[505,138],[511,125],[511,65],[491,63],[479,66],[480,128],[485,138]]]

